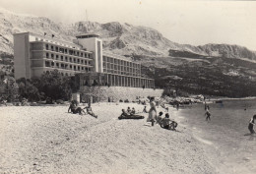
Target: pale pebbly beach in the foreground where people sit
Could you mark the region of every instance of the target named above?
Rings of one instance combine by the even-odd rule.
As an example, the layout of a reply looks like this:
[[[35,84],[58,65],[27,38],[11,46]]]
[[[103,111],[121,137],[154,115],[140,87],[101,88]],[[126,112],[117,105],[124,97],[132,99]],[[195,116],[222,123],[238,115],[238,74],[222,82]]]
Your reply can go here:
[[[128,106],[144,107],[96,103],[97,119],[68,106],[0,107],[0,173],[216,173],[178,111],[169,110],[175,132],[146,124],[147,114],[118,120]]]

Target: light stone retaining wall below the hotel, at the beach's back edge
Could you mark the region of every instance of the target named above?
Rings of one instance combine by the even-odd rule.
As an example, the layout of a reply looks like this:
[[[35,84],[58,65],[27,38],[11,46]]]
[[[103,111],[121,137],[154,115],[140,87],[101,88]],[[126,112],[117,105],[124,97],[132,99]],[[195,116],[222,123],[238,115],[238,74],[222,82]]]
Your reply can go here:
[[[94,101],[119,101],[128,99],[135,101],[136,97],[157,96],[160,97],[163,89],[142,87],[83,87],[80,89],[81,99],[87,101],[93,94]]]

